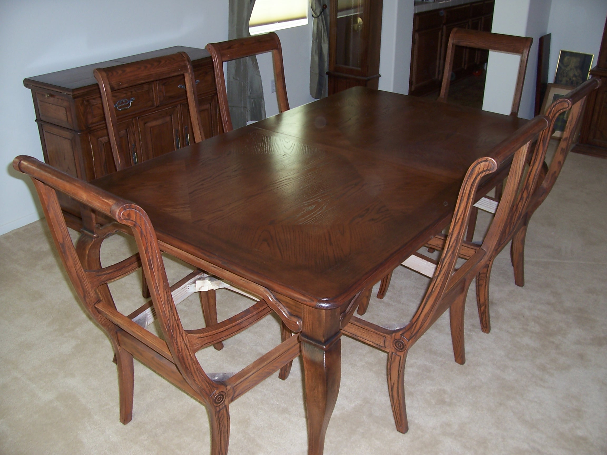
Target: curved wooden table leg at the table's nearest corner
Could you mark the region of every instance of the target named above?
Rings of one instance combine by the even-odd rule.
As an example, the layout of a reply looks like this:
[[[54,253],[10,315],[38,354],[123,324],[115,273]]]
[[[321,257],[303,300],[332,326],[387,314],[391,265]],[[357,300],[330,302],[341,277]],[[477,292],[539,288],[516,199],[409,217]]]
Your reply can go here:
[[[339,311],[306,307],[302,322],[308,455],[322,455],[341,380]]]

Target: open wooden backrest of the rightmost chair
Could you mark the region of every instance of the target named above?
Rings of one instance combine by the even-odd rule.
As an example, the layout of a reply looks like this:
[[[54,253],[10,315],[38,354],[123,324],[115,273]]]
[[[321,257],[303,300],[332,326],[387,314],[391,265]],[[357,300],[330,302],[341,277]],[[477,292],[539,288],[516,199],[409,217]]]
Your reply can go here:
[[[572,143],[577,137],[577,133],[580,131],[582,126],[582,118],[584,113],[584,107],[586,106],[586,99],[588,95],[601,85],[600,79],[592,78],[588,79],[585,83],[578,86],[576,89],[567,93],[563,98],[557,99],[548,108],[546,115],[551,120],[550,131],[554,128],[554,123],[557,121],[557,117],[563,113],[569,111],[567,123],[563,130],[563,135],[557,146],[557,150],[554,153],[554,158],[550,167],[546,171],[546,177],[541,181],[540,186],[535,190],[529,207],[527,207],[527,215],[531,214],[540,206],[540,204],[546,199],[549,192],[552,190],[554,183],[557,181],[558,175],[563,169],[565,158],[571,149]]]

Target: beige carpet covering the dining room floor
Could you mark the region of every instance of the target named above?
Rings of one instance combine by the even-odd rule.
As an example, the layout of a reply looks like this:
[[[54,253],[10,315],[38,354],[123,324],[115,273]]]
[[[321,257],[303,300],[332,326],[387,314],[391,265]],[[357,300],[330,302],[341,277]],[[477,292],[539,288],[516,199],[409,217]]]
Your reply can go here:
[[[405,372],[410,429],[396,432],[386,356],[344,338],[342,382],[325,454],[607,453],[607,160],[571,154],[527,236],[526,285],[507,252],[493,267],[492,331],[467,300],[465,365],[453,361],[448,317],[412,348]],[[113,237],[105,258],[126,255]],[[166,260],[169,279],[185,268]],[[114,286],[135,308],[138,277]],[[367,317],[386,325],[412,314],[427,280],[400,268]],[[207,454],[205,408],[135,363],[133,420],[118,421],[112,349],[76,302],[44,221],[0,237],[0,453]],[[245,305],[220,291],[220,318]],[[181,305],[200,325],[197,298]],[[279,342],[268,317],[203,350],[206,371],[237,371]],[[230,406],[231,454],[306,454],[299,359]]]

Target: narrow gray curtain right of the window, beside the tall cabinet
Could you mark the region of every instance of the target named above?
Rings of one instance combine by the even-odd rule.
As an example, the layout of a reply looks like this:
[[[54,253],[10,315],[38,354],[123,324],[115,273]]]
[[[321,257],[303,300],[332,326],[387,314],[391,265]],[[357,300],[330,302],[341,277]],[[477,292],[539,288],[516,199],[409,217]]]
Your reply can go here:
[[[327,8],[322,9],[326,4]],[[310,57],[310,95],[327,96],[329,70],[329,0],[310,0],[312,8],[312,54]]]

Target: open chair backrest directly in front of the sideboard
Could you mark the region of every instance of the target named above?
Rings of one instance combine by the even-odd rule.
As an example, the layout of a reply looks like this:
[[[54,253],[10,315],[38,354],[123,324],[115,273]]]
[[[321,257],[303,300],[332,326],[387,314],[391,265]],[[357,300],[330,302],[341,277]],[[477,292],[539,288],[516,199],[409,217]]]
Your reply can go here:
[[[130,107],[131,103],[137,103],[136,99],[126,98],[124,106],[119,105],[123,100],[115,99],[115,90],[125,90],[129,87],[150,83],[158,79],[183,76],[185,79],[186,96],[188,97],[189,116],[192,123],[195,142],[205,138],[200,120],[200,109],[198,108],[198,96],[196,94],[196,82],[192,62],[188,54],[178,52],[171,55],[150,58],[123,65],[107,68],[98,68],[93,71],[95,79],[101,91],[101,104],[106,116],[107,133],[116,170],[131,166],[133,158],[127,150],[120,150],[120,133],[116,110]]]

